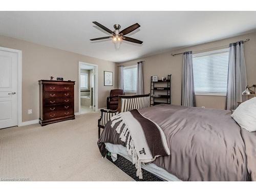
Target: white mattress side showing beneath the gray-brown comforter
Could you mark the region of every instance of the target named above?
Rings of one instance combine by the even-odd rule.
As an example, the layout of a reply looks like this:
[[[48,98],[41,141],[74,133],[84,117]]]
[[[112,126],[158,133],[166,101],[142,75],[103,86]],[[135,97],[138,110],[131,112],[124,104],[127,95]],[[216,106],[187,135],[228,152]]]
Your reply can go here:
[[[111,152],[111,158],[113,161],[117,159],[117,154],[118,154],[132,162],[132,157],[127,153],[126,147],[120,144],[112,144],[112,143],[105,143],[105,147],[106,147],[106,150]],[[154,163],[149,163],[149,164],[142,163],[141,168],[147,170],[148,172],[166,181],[181,181],[176,176],[168,173],[165,169],[155,165]]]

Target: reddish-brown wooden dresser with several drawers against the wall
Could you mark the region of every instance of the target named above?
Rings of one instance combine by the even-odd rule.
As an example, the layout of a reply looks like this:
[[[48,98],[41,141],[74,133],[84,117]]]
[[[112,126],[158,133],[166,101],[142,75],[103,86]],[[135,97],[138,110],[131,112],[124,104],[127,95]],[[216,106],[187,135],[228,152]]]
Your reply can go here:
[[[75,81],[39,80],[40,117],[39,123],[49,123],[75,119],[74,84]]]

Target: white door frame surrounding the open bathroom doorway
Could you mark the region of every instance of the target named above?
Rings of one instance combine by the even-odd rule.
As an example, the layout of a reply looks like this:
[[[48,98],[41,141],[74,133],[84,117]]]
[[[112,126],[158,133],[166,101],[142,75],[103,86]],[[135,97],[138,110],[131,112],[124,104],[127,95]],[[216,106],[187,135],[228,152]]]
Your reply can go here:
[[[98,65],[78,61],[78,115],[81,114],[80,69],[82,65],[95,67],[95,111],[98,111]]]

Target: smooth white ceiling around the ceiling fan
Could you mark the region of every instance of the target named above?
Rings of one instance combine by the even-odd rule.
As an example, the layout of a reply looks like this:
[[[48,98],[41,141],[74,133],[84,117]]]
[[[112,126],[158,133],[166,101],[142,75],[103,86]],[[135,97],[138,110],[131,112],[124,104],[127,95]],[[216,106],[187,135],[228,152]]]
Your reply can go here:
[[[130,37],[142,45],[123,41],[115,50],[108,36],[92,23],[121,30],[135,23],[141,27]],[[256,12],[0,12],[0,35],[67,50],[114,62],[136,59],[184,46],[245,34],[256,29]]]

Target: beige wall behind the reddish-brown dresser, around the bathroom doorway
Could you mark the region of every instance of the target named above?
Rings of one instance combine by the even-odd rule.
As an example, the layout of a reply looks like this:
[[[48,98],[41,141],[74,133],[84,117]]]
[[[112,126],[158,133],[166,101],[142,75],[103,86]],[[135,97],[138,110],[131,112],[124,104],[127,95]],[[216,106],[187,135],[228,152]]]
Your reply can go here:
[[[39,86],[38,80],[63,77],[64,80],[74,80],[75,112],[78,112],[78,61],[98,65],[98,108],[106,106],[106,97],[111,89],[116,88],[115,63],[68,51],[54,49],[32,42],[0,36],[0,46],[22,50],[22,117],[23,121],[39,118]],[[84,53],[86,54],[86,53]],[[113,71],[114,83],[104,86],[103,71]],[[28,109],[33,113],[28,114]]]

